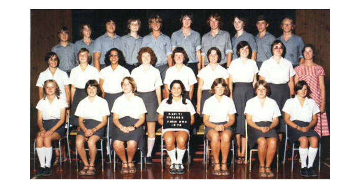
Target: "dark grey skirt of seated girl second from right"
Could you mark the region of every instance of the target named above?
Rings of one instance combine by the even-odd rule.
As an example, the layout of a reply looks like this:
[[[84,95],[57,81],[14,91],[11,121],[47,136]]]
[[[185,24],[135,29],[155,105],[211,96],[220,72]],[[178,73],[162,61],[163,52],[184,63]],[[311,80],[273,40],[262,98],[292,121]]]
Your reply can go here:
[[[271,125],[271,123],[272,122],[270,122],[270,121],[255,122],[255,124],[259,127],[268,127]],[[267,133],[262,133],[260,130],[257,130],[257,129],[254,129],[254,128],[248,126],[249,149],[251,149],[256,144],[257,139],[260,137],[278,139],[278,134],[276,134],[275,129],[271,129]]]

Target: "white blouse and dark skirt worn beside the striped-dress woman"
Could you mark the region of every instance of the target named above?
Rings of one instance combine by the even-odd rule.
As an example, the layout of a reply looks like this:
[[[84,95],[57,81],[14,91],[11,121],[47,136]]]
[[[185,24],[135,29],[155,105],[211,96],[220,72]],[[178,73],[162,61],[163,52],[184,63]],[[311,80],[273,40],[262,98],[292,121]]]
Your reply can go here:
[[[259,75],[265,77],[265,81],[269,83],[271,90],[270,97],[274,99],[279,108],[282,109],[286,100],[290,98],[288,82],[290,77],[295,75],[291,62],[281,58],[278,64],[273,57],[271,57],[262,63]],[[283,116],[279,118],[279,125],[276,127],[276,132],[285,132]]]

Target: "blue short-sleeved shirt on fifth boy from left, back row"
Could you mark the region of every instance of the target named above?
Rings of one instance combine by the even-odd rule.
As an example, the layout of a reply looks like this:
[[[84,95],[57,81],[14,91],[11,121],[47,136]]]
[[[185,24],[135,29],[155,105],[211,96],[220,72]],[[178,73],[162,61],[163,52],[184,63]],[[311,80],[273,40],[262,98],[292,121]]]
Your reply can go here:
[[[143,39],[141,47],[150,47],[153,49],[157,57],[156,67],[167,64],[167,56],[171,55],[170,37],[165,34],[160,34],[157,39],[149,33]]]

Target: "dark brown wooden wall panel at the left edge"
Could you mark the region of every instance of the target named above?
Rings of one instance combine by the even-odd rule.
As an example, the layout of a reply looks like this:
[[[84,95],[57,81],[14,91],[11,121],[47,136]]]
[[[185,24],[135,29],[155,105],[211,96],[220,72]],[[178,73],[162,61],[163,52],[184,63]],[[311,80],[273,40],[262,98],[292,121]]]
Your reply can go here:
[[[44,55],[59,41],[57,31],[67,26],[72,31],[71,10],[31,10],[31,80],[30,80],[30,137],[36,132],[36,104],[39,101],[36,81],[47,65]],[[71,38],[70,38],[71,39]]]

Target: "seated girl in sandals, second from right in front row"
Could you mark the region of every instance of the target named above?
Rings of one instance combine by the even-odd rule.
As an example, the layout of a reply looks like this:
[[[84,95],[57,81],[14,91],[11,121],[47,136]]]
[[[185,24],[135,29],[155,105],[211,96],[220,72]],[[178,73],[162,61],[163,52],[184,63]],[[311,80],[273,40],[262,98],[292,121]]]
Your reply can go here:
[[[270,93],[270,88],[266,81],[257,81],[254,91],[257,96],[246,102],[244,110],[249,126],[248,144],[250,149],[255,143],[258,144],[259,177],[274,177],[270,167],[275,156],[278,141],[274,128],[279,123],[278,117],[281,113],[275,100],[267,97],[267,94]]]

